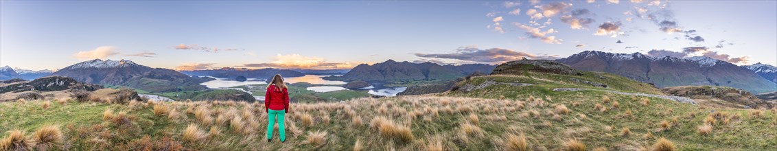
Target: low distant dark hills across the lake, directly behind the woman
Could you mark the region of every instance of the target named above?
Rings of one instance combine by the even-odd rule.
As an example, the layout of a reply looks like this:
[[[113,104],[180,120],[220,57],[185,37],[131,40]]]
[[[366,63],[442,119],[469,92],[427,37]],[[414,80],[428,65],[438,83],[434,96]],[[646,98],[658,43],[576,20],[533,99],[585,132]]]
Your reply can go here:
[[[197,76],[213,76],[217,78],[237,78],[238,76],[245,76],[246,78],[262,78],[272,77],[275,74],[283,75],[284,77],[298,77],[305,76],[304,73],[296,72],[287,69],[278,68],[262,68],[262,69],[248,69],[248,68],[219,68],[210,70],[193,70],[193,71],[181,71],[186,75]]]

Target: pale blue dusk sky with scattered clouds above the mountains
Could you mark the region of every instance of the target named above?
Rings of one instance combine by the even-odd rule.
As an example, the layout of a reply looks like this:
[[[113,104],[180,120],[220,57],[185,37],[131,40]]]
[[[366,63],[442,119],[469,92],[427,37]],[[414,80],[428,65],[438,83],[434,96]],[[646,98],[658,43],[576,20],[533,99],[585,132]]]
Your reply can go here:
[[[777,65],[777,1],[0,1],[0,66],[498,64],[607,51]]]

